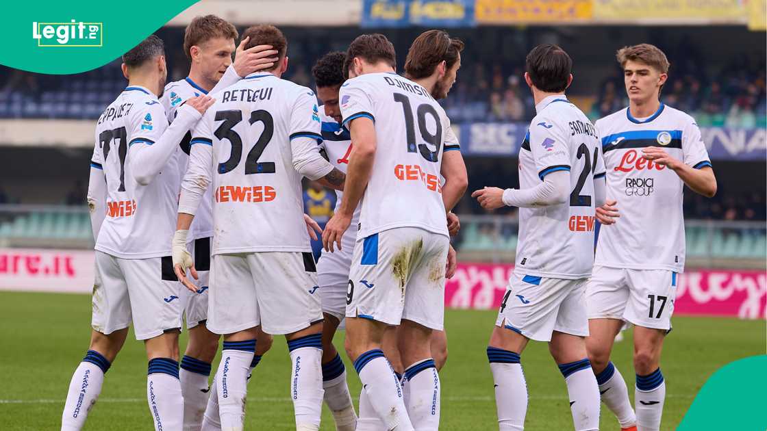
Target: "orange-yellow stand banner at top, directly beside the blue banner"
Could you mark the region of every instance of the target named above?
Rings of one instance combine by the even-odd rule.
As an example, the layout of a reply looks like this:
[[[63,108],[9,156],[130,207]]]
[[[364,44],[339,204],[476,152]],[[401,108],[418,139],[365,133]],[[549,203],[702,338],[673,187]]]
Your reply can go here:
[[[590,21],[592,0],[476,0],[478,24],[538,24]]]

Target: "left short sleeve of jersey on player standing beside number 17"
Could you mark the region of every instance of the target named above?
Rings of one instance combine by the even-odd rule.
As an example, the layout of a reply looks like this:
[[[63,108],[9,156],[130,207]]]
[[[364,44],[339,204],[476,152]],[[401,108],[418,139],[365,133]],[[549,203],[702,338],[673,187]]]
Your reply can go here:
[[[568,133],[551,118],[538,116],[530,124],[530,152],[538,178],[552,172],[570,170]]]

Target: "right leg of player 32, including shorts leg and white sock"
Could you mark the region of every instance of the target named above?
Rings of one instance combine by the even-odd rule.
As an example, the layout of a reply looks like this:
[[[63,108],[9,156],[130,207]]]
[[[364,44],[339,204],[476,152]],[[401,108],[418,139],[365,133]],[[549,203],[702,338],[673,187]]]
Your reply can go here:
[[[291,357],[296,429],[319,429],[322,413],[322,306],[311,252],[248,255],[256,279],[262,329],[284,334]],[[275,270],[276,268],[276,270]]]

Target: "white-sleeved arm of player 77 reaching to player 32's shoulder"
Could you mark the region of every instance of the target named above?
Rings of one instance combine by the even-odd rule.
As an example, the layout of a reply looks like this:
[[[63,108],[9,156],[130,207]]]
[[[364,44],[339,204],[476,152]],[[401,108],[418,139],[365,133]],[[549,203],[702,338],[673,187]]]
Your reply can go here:
[[[128,143],[128,151],[130,151],[128,160],[137,183],[146,186],[152,182],[160,170],[166,166],[186,132],[197,123],[214,101],[209,96],[192,97],[186,100],[185,104],[176,111],[178,115],[173,123],[164,128],[161,124],[167,121],[160,104],[149,105],[148,109],[137,111],[138,115],[134,116],[132,121],[133,133],[130,134],[133,139]],[[142,128],[146,127],[145,115],[161,120],[154,124],[150,123],[148,126],[150,129],[147,130]]]

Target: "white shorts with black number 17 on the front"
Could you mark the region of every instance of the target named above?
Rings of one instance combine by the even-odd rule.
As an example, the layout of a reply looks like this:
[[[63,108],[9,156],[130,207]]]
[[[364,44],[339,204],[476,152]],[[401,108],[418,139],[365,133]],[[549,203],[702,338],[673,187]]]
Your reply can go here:
[[[590,319],[620,319],[670,331],[676,299],[675,271],[594,265],[586,287]]]

